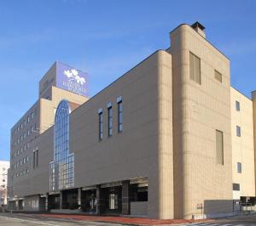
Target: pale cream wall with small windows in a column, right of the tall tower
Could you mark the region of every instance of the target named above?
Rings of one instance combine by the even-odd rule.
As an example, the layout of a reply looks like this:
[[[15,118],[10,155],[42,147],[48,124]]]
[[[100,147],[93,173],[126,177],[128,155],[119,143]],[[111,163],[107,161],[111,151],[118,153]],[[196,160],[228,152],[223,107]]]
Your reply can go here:
[[[240,184],[240,190],[233,191],[233,199],[239,200],[241,196],[255,197],[253,101],[235,88],[230,91],[233,183]],[[236,110],[236,101],[240,103],[240,110]],[[241,127],[241,137],[236,134],[236,126]],[[238,172],[238,162],[241,172]]]

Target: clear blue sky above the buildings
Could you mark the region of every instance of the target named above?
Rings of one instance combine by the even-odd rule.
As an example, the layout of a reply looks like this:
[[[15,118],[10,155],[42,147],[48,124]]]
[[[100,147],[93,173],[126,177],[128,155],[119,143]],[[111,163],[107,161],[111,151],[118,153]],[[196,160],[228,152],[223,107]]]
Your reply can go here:
[[[256,1],[0,1],[0,160],[9,131],[38,99],[38,82],[55,60],[90,75],[90,96],[160,48],[169,31],[199,20],[230,58],[231,83],[256,89]]]

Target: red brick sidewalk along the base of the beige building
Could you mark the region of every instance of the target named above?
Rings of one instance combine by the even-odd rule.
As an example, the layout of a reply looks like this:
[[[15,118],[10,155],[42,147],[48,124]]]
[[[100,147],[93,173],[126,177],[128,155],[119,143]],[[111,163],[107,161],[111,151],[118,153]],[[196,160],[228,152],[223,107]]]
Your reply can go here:
[[[205,222],[204,220],[184,220],[184,219],[151,219],[151,218],[129,218],[129,217],[103,217],[103,216],[85,216],[85,215],[70,215],[70,214],[37,214],[38,217],[44,218],[66,218],[88,222],[106,222],[106,223],[121,223],[121,224],[136,224],[136,225],[163,225],[163,224],[179,224],[179,223],[195,223]]]

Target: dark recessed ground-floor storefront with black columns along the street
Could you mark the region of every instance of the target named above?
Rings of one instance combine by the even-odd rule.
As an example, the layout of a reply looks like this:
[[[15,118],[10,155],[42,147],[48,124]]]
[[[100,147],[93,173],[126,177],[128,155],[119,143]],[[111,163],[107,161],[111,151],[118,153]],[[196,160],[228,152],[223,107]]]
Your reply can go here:
[[[55,213],[148,216],[148,179],[63,189],[9,201],[9,209]]]

